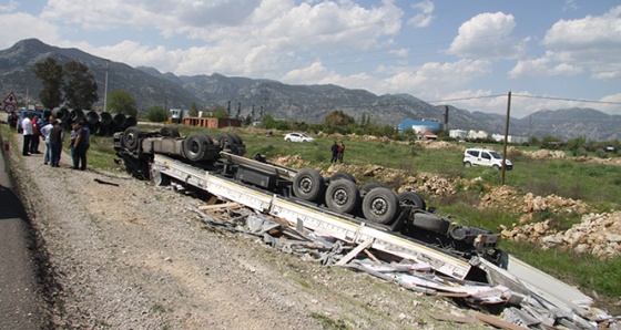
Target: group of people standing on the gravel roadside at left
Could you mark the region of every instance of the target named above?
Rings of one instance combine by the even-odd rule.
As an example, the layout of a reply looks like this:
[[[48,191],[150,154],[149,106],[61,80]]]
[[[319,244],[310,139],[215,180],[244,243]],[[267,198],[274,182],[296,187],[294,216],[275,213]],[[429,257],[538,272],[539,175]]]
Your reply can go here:
[[[64,130],[62,121],[50,116],[48,121],[40,121],[39,116],[27,114],[20,126],[23,134],[22,155],[41,154],[39,144],[41,138],[45,143],[43,164],[60,167]],[[74,122],[69,135],[73,169],[86,169],[86,152],[90,146],[90,132],[84,122]]]

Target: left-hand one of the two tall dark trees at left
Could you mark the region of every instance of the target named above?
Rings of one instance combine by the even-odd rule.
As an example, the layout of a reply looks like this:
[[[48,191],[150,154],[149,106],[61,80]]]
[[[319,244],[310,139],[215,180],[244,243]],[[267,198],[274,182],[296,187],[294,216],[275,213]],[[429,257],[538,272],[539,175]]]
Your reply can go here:
[[[39,100],[43,106],[53,109],[62,103],[62,65],[53,58],[47,58],[34,64],[34,74],[43,83],[43,89],[39,92]]]

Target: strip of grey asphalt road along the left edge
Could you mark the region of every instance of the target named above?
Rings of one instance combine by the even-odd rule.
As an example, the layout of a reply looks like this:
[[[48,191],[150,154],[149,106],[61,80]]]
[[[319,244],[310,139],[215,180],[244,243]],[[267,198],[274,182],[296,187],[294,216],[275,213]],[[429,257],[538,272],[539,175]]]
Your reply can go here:
[[[0,146],[0,329],[44,329],[37,265],[31,252],[32,230],[13,192],[1,137]]]

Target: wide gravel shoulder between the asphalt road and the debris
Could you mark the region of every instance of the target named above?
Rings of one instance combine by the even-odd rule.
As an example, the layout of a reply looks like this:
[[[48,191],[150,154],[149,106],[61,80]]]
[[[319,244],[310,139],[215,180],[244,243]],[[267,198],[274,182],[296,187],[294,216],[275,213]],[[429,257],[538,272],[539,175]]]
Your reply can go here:
[[[450,300],[208,227],[190,196],[124,173],[73,171],[67,154],[51,168],[16,148],[13,176],[45,260],[50,328],[481,328],[431,318],[467,314]]]

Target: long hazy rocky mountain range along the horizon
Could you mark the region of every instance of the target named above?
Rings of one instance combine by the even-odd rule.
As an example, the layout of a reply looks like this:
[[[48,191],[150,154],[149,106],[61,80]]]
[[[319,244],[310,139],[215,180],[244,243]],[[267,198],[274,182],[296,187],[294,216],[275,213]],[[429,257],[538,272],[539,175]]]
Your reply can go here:
[[[257,120],[269,114],[278,120],[320,123],[340,110],[360,120],[397,126],[401,120],[445,122],[448,127],[503,134],[503,115],[468,111],[452,105],[431,105],[409,94],[376,95],[365,90],[350,90],[333,84],[291,85],[274,80],[211,75],[161,73],[153,68],[132,68],[121,62],[91,55],[79,49],[63,49],[37,39],[17,42],[0,51],[0,93],[14,92],[18,99],[37,103],[42,89],[34,75],[34,64],[45,58],[59,63],[79,61],[89,66],[99,86],[100,101],[95,110],[103,110],[105,82],[108,91],[124,90],[136,100],[140,111],[160,105],[164,109],[186,109],[195,103],[200,110],[223,107],[232,116]],[[584,136],[587,140],[609,141],[621,136],[620,115],[609,115],[593,109],[540,110],[523,118],[510,118],[509,134],[515,136],[554,136],[561,140]]]

